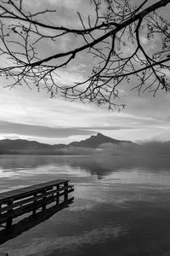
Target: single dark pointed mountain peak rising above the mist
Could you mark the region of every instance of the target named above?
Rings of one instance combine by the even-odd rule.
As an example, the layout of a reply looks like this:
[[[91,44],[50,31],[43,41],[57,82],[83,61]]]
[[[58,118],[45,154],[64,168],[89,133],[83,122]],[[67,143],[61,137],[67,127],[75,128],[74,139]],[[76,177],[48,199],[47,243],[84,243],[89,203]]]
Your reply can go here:
[[[99,146],[104,143],[121,144],[132,142],[116,140],[111,137],[106,137],[101,133],[98,133],[96,136],[91,136],[86,140],[82,140],[81,142],[70,143],[69,146],[78,148],[99,148]]]

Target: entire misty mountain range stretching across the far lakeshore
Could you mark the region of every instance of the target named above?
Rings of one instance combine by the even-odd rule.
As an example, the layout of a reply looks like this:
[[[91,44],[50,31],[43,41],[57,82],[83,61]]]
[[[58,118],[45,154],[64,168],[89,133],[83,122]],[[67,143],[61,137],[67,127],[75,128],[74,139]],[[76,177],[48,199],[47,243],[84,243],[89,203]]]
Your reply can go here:
[[[99,149],[99,150],[98,150]],[[170,141],[136,144],[116,140],[101,133],[68,145],[37,143],[26,140],[0,140],[0,154],[110,154],[110,155],[170,155]]]

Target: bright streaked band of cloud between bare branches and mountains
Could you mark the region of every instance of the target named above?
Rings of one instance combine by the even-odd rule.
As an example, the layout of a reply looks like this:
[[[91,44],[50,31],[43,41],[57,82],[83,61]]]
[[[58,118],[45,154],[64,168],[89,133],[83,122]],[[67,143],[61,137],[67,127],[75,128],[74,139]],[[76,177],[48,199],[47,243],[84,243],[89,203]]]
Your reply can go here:
[[[26,87],[15,90],[0,88],[0,93],[0,120],[8,123],[6,124],[8,130],[1,130],[1,134],[6,133],[5,137],[11,136],[11,133],[17,136],[20,132],[20,135],[25,133],[29,135],[29,140],[35,139],[43,143],[71,143],[89,137],[88,135],[94,134],[94,131],[102,131],[105,136],[121,140],[148,140],[154,137],[160,137],[160,140],[162,137],[165,140],[165,132],[166,139],[168,137],[170,139],[168,96],[162,95],[152,99],[149,96],[133,96],[126,92],[129,107],[121,113],[116,113],[93,104],[66,102],[59,97],[50,99],[45,91],[38,93],[37,90],[29,90]],[[20,129],[18,130],[14,124],[19,124]],[[11,129],[9,129],[10,125]],[[31,125],[34,126],[35,131],[32,131]],[[46,128],[39,130],[38,134],[39,126],[59,128],[62,131],[52,129],[50,137],[48,132],[50,130],[47,131]],[[26,131],[26,127],[30,127],[32,135],[28,129]],[[61,134],[63,141],[59,139]],[[65,140],[64,134],[69,136],[68,140]],[[53,136],[58,139],[53,140]]]

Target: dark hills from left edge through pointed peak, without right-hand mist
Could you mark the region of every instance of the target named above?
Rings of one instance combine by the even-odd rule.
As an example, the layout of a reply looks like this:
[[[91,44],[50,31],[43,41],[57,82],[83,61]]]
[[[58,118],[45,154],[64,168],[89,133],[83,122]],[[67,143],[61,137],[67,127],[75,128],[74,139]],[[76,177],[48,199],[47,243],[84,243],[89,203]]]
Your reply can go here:
[[[91,136],[81,142],[74,142],[68,145],[54,144],[49,145],[46,143],[37,143],[36,141],[26,140],[0,140],[0,154],[69,154],[71,148],[99,148],[104,143],[131,143],[127,141],[120,141],[111,137],[106,137],[101,133],[96,136]],[[68,149],[68,150],[65,150]],[[79,149],[77,150],[77,152]],[[70,153],[72,151],[70,150]]]

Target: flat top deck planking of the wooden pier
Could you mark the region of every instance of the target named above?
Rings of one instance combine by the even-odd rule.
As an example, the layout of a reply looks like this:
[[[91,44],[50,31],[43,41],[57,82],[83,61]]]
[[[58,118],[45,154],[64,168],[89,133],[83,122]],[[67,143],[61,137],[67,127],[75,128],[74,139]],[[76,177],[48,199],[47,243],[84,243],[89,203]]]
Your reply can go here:
[[[7,192],[3,192],[0,194],[0,203],[3,203],[5,201],[7,201],[9,198],[13,197],[14,199],[16,199],[17,197],[22,197],[25,195],[29,195],[33,192],[38,192],[38,190],[44,189],[44,188],[49,188],[51,186],[56,186],[58,184],[62,184],[65,182],[68,182],[69,180],[62,180],[62,179],[57,179],[51,182],[47,182],[47,183],[39,183],[37,185],[33,185],[33,186],[29,186],[26,188],[22,188],[22,189],[15,189],[13,191],[7,191]],[[20,197],[20,199],[21,199]]]

